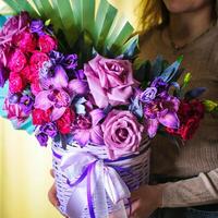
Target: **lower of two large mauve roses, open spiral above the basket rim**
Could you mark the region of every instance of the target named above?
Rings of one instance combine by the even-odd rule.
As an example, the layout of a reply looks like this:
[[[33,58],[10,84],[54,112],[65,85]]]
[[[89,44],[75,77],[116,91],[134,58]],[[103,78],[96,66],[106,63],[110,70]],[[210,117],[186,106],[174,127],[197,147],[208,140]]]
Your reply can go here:
[[[144,128],[130,111],[112,110],[102,123],[104,141],[111,159],[140,149]]]

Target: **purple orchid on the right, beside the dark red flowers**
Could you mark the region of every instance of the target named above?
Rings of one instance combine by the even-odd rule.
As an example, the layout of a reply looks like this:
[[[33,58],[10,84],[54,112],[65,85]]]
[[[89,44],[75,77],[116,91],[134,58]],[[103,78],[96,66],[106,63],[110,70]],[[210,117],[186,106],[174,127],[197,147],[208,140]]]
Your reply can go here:
[[[156,135],[159,124],[171,129],[179,128],[180,121],[177,116],[179,106],[180,100],[167,93],[162,93],[154,101],[145,105],[145,125],[150,137]]]

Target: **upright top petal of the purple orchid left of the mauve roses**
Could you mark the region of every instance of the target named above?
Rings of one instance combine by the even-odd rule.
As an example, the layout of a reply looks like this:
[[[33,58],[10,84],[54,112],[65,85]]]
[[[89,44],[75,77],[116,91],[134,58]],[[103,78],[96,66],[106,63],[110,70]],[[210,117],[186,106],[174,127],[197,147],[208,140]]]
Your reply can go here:
[[[55,76],[52,80],[55,88],[66,88],[68,87],[69,77],[61,65],[57,65],[55,69]]]

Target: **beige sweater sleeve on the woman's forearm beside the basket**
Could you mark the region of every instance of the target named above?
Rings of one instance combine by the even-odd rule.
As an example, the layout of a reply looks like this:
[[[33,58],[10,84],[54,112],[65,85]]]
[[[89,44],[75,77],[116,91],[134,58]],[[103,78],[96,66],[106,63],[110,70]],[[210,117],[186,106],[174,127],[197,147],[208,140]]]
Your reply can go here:
[[[218,168],[198,177],[167,183],[162,207],[186,207],[218,203]]]

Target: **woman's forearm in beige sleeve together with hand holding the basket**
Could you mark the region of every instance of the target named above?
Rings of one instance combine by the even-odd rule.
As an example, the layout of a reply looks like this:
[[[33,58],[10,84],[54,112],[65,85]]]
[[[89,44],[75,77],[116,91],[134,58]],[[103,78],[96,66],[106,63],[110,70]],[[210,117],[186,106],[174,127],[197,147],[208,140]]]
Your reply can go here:
[[[132,193],[131,218],[148,218],[161,207],[189,207],[218,203],[218,168],[178,182],[143,185]]]

